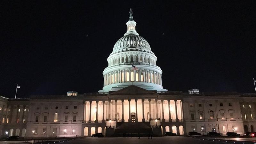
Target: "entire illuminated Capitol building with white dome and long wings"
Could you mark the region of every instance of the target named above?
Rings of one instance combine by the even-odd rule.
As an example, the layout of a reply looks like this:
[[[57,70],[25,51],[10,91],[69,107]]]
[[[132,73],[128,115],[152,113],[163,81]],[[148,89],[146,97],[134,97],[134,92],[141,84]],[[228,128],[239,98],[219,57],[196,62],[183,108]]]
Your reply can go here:
[[[136,31],[132,11],[127,31],[114,45],[95,93],[0,96],[0,135],[84,137],[123,133],[251,132],[256,126],[256,94],[168,91],[157,57]],[[163,78],[164,80],[164,78]],[[33,132],[32,132],[33,131]]]

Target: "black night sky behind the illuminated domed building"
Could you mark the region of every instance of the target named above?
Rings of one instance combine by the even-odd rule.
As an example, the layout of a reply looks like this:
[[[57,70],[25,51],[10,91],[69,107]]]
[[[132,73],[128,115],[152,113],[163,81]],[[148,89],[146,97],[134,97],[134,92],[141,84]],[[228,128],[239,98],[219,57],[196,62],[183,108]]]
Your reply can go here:
[[[97,92],[116,41],[136,30],[169,91],[252,93],[255,1],[22,1],[0,5],[0,95]]]

